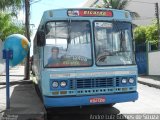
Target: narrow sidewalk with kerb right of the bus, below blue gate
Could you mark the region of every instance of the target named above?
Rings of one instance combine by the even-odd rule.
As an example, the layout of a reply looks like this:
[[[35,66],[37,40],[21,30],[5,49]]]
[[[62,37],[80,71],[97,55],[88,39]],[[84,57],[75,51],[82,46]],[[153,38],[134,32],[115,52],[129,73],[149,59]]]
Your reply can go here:
[[[160,76],[139,76],[138,82],[160,89]]]

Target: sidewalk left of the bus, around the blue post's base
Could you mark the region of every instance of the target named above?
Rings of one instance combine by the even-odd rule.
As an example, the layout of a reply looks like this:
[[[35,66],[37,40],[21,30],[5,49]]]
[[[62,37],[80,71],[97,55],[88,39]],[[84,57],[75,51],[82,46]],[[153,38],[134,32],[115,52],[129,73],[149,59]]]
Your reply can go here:
[[[30,80],[23,80],[24,66],[10,69],[10,109],[6,110],[5,74],[0,76],[0,120],[44,120],[46,111]],[[3,115],[3,117],[2,117]]]

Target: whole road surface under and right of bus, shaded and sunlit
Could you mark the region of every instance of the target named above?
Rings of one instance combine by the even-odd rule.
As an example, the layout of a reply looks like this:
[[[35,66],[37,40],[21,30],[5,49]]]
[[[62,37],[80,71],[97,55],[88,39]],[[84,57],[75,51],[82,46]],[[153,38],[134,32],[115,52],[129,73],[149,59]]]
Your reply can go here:
[[[159,120],[160,89],[138,84],[138,92],[139,99],[137,101],[119,103],[113,107],[101,105],[82,108],[50,109],[48,111],[48,120],[114,120],[115,118],[119,120]]]

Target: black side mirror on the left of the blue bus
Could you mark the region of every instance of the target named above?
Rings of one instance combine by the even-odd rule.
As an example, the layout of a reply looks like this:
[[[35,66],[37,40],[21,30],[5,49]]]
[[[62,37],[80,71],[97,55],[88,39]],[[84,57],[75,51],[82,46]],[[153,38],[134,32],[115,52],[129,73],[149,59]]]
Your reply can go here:
[[[46,44],[45,33],[43,31],[37,32],[37,46],[42,47]]]

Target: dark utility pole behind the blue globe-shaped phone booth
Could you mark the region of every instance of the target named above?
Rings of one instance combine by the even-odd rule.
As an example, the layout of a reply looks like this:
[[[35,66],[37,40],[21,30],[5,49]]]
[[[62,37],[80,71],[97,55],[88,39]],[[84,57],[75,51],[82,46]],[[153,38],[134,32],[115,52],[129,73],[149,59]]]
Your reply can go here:
[[[26,30],[26,37],[28,41],[30,42],[30,23],[29,23],[29,16],[30,16],[30,0],[25,0],[25,30]],[[27,54],[27,58],[25,61],[25,69],[24,69],[24,80],[29,80],[30,79],[30,64],[29,64],[29,59],[30,59],[30,50]]]

